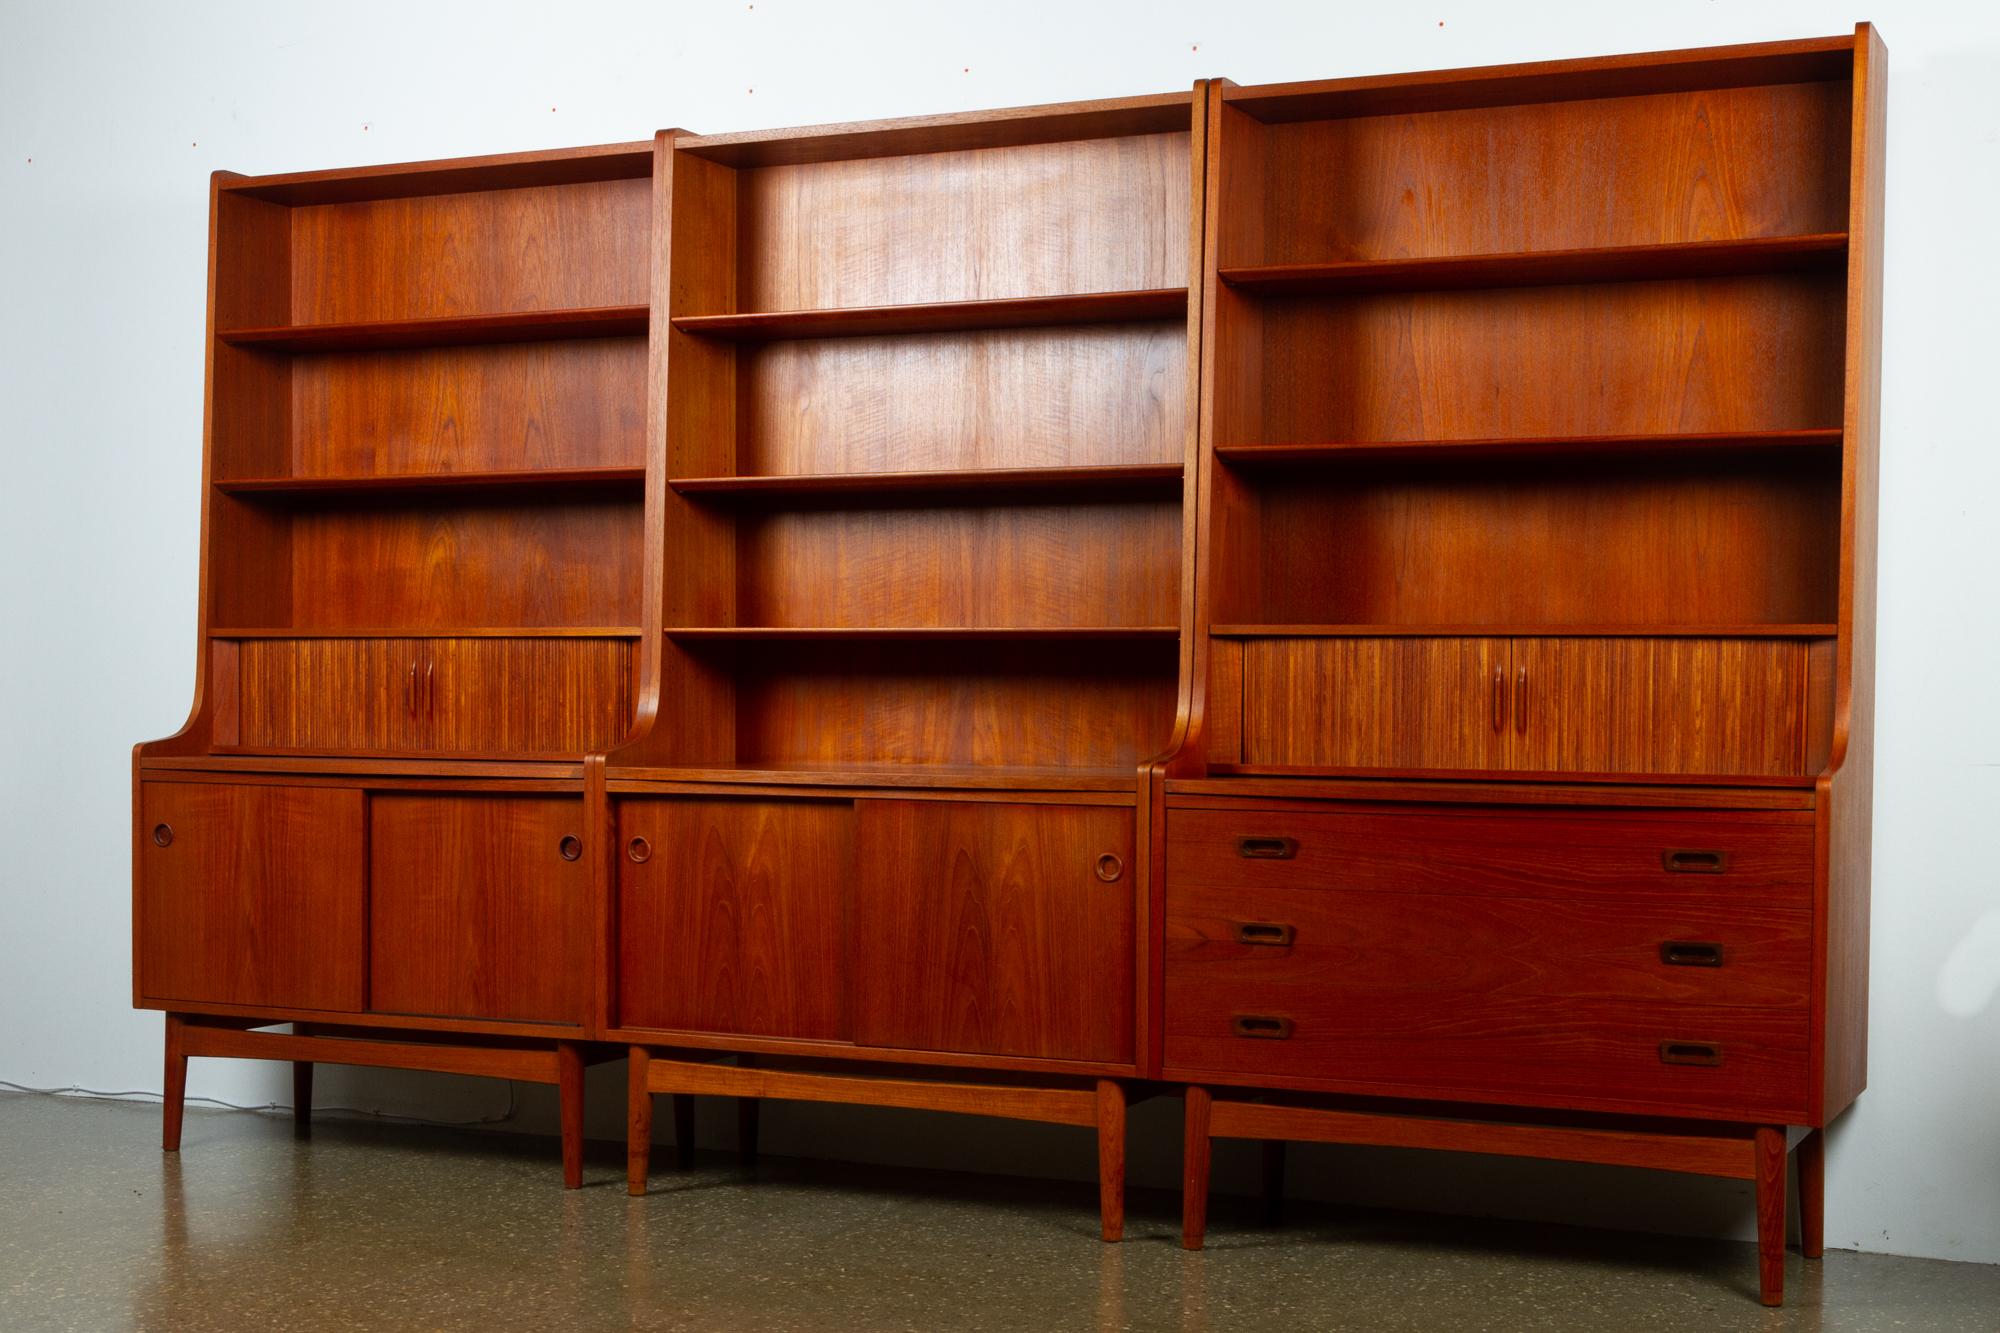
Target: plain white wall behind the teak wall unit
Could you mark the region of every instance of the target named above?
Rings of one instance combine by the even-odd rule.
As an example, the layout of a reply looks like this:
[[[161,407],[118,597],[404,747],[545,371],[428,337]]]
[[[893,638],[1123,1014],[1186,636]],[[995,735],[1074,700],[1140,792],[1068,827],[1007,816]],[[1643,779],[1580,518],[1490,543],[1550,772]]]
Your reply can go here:
[[[212,168],[1750,42],[1856,18],[1882,26],[1892,70],[1874,1043],[1872,1087],[1832,1139],[1828,1243],[2000,1261],[2000,6],[1976,2],[6,0],[0,1079],[160,1079],[160,1019],[128,1007],[128,747],[174,731],[192,687]],[[266,1101],[284,1097],[280,1077],[202,1061],[190,1087]],[[422,1075],[328,1071],[322,1087],[444,1119],[508,1107],[502,1085]],[[546,1099],[524,1093],[524,1111],[516,1123],[546,1127]],[[614,1079],[596,1085],[592,1119],[618,1133]],[[778,1151],[1090,1165],[1060,1131],[790,1107],[770,1125]],[[1142,1175],[1170,1183],[1174,1107],[1144,1107],[1136,1133]],[[1304,1157],[1316,1189],[1410,1207],[1736,1233],[1748,1217],[1742,1189],[1708,1181]]]

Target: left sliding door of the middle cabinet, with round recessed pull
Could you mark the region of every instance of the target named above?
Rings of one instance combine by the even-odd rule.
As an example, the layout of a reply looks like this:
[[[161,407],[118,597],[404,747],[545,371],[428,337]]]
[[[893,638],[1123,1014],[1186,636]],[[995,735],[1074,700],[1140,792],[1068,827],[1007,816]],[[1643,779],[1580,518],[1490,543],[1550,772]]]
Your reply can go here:
[[[850,801],[622,799],[616,821],[620,1027],[852,1035]]]

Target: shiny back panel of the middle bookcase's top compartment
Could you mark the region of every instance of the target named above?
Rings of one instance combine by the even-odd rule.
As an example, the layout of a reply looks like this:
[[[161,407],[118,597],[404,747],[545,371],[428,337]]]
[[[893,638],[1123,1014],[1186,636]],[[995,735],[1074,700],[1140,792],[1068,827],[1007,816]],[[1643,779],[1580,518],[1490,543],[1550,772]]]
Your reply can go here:
[[[738,308],[1188,282],[1188,136],[1132,134],[738,172]]]

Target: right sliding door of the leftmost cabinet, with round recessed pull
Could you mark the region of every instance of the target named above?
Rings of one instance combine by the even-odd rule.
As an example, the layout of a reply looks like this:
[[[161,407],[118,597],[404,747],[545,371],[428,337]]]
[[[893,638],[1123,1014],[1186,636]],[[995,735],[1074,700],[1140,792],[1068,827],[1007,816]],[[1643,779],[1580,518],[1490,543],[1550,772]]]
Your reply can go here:
[[[586,837],[578,797],[374,795],[368,1009],[580,1023]]]

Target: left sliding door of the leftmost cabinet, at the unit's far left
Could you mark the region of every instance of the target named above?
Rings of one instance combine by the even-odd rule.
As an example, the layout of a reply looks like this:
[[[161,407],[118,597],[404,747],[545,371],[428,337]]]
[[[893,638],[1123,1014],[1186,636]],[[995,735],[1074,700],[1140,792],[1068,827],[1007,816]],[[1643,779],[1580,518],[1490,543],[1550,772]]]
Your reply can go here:
[[[362,793],[146,783],[138,845],[144,1001],[362,1007]]]

